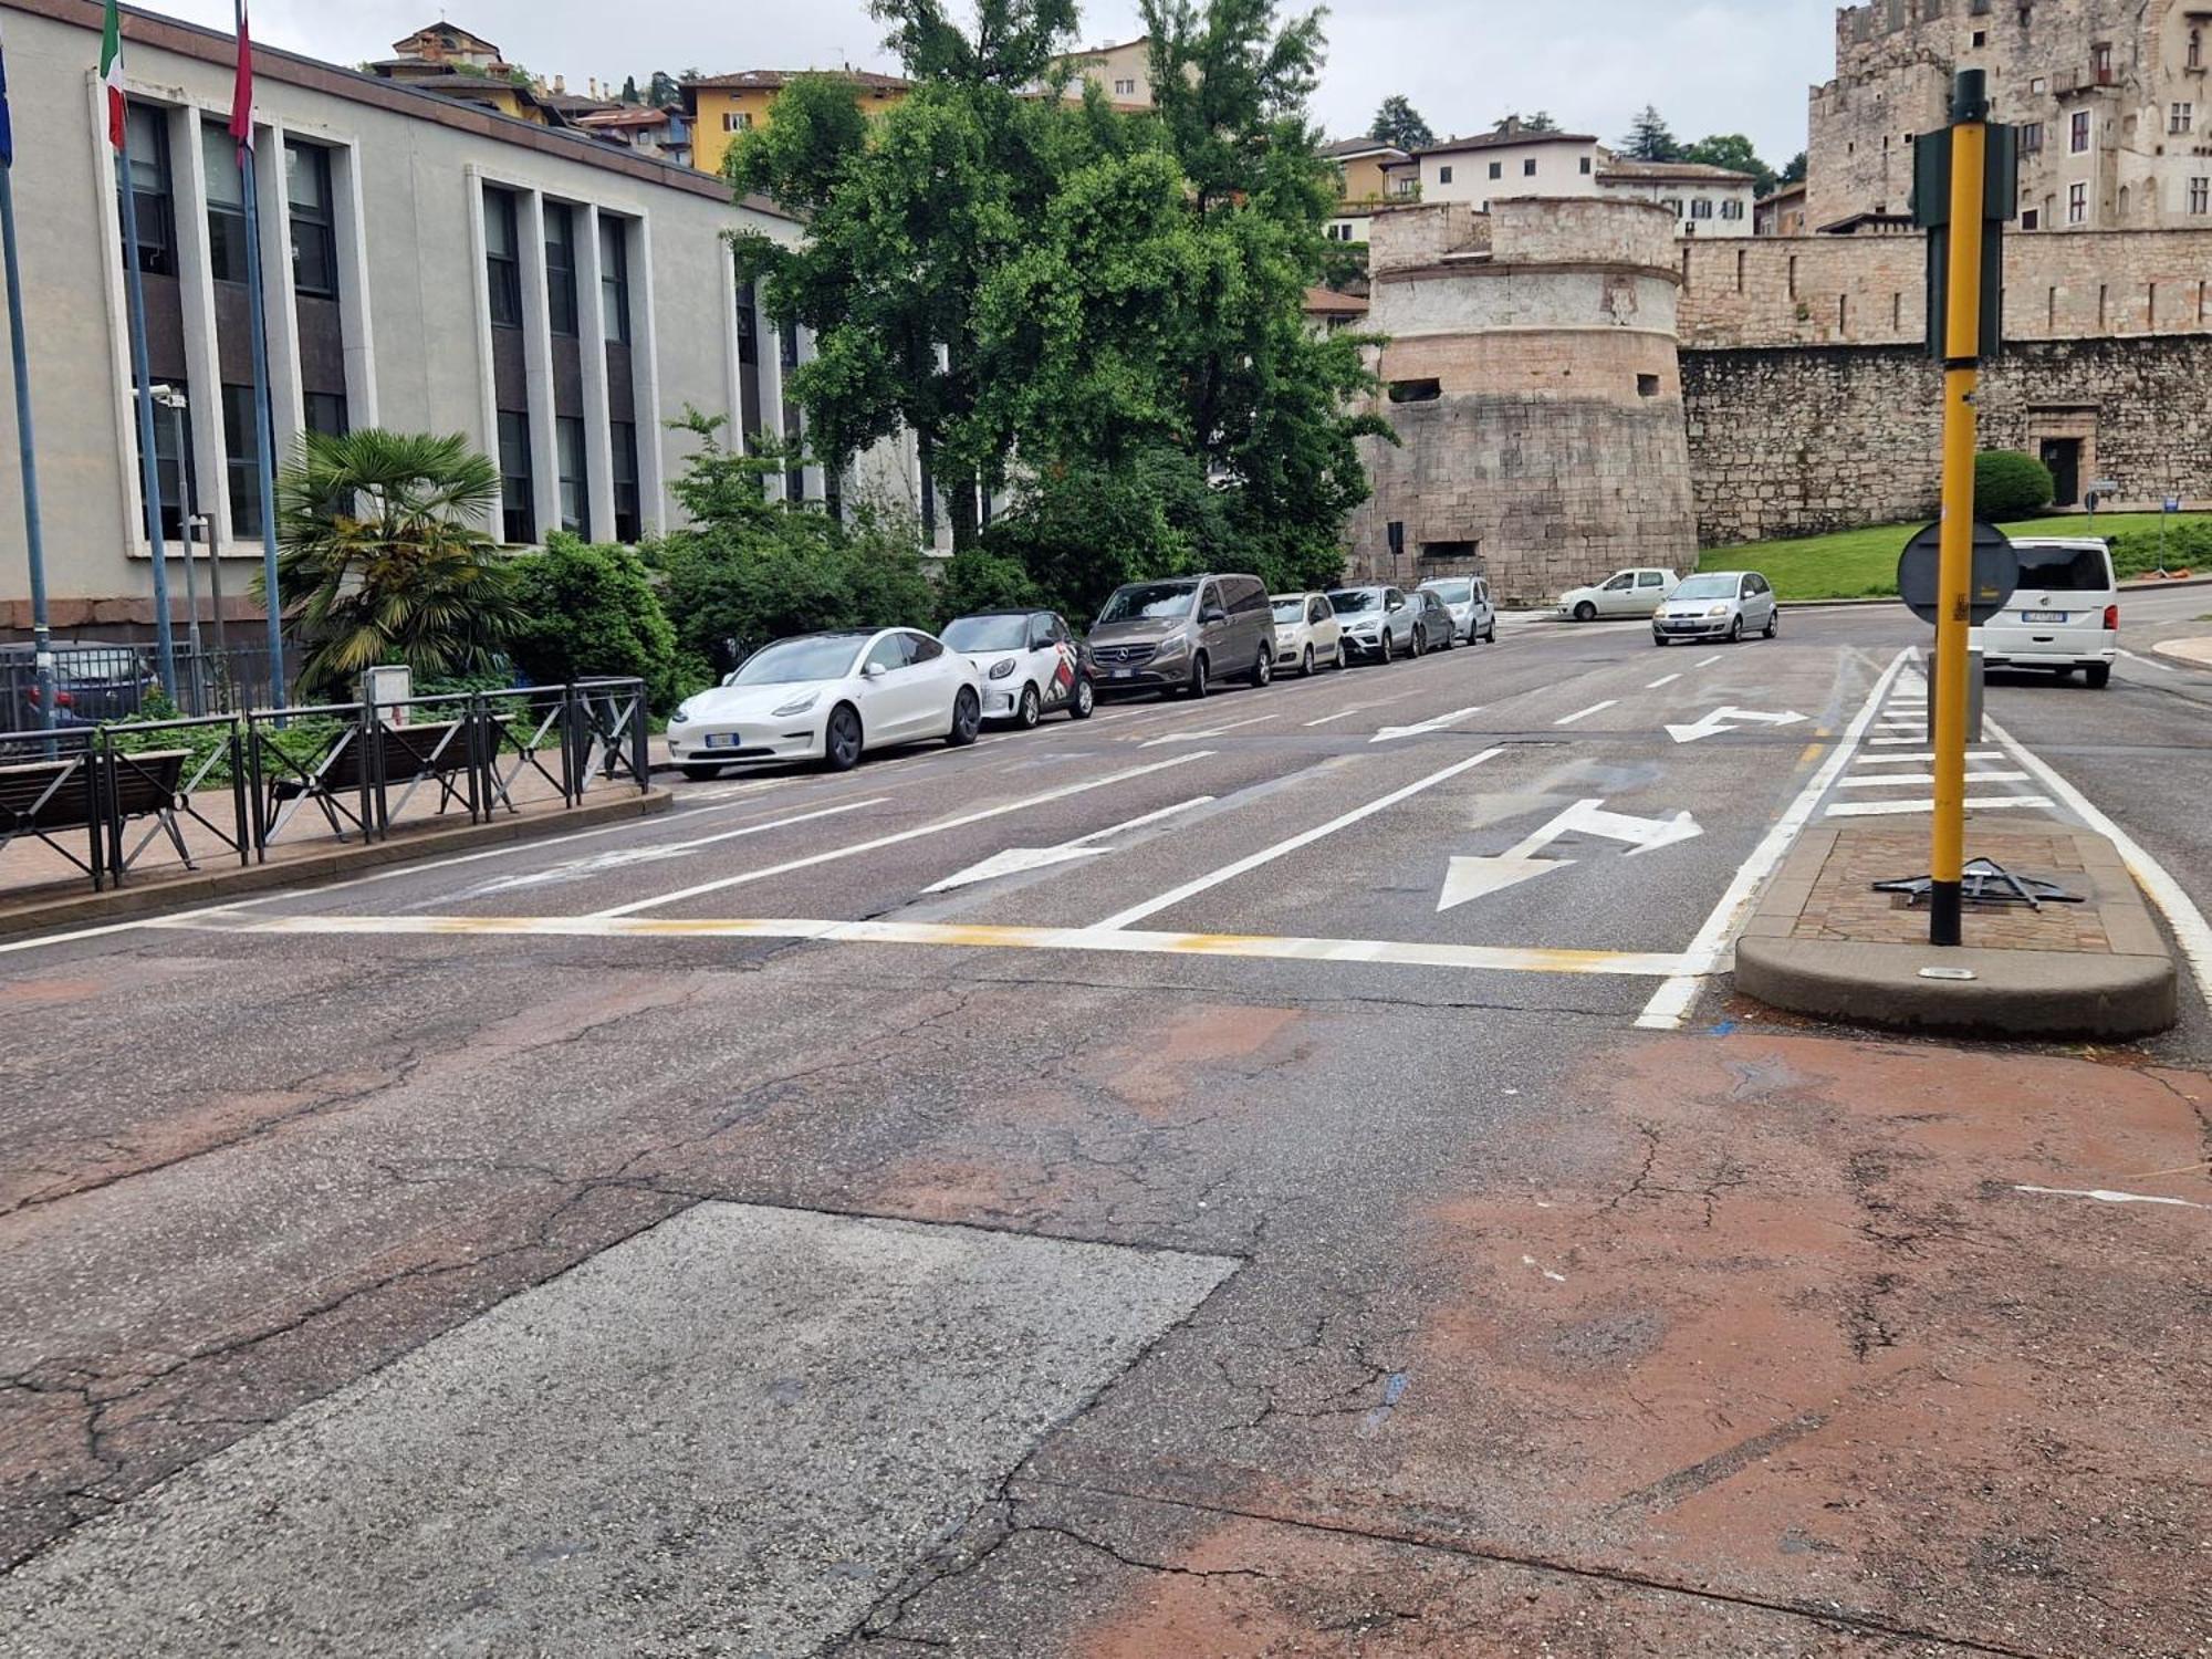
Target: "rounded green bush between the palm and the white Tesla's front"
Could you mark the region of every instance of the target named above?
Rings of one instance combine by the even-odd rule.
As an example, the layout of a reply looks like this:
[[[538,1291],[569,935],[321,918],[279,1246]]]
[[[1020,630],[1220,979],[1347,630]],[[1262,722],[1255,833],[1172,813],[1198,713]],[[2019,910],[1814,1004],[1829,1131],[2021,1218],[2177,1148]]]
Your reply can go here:
[[[515,560],[524,622],[507,650],[542,686],[595,675],[646,681],[655,708],[677,699],[677,630],[644,560],[624,546],[555,535]]]

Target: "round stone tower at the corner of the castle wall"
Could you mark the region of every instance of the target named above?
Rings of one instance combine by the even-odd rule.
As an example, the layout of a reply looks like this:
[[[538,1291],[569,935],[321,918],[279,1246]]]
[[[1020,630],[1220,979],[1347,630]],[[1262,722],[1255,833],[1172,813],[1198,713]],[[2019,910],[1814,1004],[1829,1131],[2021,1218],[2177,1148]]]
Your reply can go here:
[[[1363,440],[1356,573],[1480,573],[1542,602],[1624,564],[1697,566],[1670,210],[1391,208],[1367,257],[1387,338],[1376,407],[1398,445]]]

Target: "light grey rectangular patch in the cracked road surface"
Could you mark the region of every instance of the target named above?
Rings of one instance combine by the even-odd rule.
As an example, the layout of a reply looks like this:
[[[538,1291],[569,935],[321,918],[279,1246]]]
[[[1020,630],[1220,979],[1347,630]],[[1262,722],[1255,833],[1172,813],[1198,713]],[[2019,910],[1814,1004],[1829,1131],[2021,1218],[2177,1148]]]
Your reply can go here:
[[[807,1652],[1234,1261],[703,1203],[0,1584],[9,1652]]]

